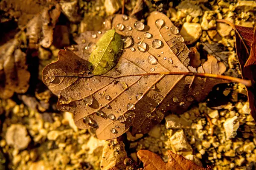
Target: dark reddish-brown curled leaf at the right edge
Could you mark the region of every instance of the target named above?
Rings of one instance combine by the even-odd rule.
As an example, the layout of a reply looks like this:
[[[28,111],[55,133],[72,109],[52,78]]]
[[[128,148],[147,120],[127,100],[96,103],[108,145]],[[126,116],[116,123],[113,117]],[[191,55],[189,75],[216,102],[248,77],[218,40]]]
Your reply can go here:
[[[252,82],[256,80],[256,27],[235,26],[227,20],[219,20],[232,26],[236,34],[236,54],[241,67],[243,79],[249,79]],[[247,88],[247,96],[250,103],[251,115],[256,120],[256,87]]]

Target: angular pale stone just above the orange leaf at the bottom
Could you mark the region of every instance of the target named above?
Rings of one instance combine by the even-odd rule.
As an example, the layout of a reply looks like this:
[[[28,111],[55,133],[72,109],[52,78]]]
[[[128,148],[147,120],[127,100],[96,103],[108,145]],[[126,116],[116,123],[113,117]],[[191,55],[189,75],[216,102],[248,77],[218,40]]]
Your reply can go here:
[[[192,153],[192,147],[190,146],[189,142],[187,141],[187,137],[183,131],[183,129],[177,130],[171,138],[170,143],[172,145],[172,149],[179,152],[179,151],[185,151],[185,152],[191,152]]]

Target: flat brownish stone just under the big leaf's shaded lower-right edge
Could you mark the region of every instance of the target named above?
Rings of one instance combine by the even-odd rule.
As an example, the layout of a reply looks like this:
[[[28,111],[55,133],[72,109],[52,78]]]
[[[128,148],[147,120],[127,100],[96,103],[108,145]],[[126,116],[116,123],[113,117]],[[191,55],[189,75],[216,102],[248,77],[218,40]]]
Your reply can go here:
[[[182,117],[179,117],[175,114],[170,114],[166,116],[165,119],[166,129],[182,129],[190,127],[190,123],[188,122],[188,120],[183,119]]]

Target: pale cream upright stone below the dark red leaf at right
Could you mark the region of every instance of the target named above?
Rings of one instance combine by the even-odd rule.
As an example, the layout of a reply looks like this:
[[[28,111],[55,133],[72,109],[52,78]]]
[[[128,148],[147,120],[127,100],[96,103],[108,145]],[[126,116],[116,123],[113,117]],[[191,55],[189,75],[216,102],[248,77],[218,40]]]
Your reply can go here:
[[[223,124],[227,139],[231,139],[236,136],[236,130],[239,128],[239,121],[237,118],[237,116],[228,118]]]

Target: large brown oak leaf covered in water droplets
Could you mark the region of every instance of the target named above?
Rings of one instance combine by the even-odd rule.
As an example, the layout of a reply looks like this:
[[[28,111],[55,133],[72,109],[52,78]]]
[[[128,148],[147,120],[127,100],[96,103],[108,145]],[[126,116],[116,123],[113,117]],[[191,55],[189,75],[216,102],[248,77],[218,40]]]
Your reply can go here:
[[[58,61],[43,70],[44,83],[59,97],[58,109],[73,112],[79,128],[96,127],[99,139],[116,138],[130,127],[133,135],[146,133],[167,111],[186,111],[193,101],[204,99],[215,84],[224,82],[185,76],[184,73],[196,69],[188,67],[189,49],[178,29],[159,12],[152,12],[147,23],[144,26],[134,18],[124,19],[123,15],[113,17],[116,31],[124,39],[130,37],[133,43],[124,42],[123,54],[106,74],[93,76],[87,69],[93,44],[103,31],[83,33],[76,39],[78,46],[59,51]],[[121,31],[120,24],[124,26]],[[209,56],[198,73],[222,74],[225,69]]]

